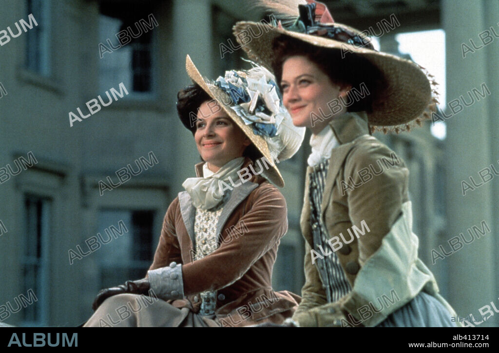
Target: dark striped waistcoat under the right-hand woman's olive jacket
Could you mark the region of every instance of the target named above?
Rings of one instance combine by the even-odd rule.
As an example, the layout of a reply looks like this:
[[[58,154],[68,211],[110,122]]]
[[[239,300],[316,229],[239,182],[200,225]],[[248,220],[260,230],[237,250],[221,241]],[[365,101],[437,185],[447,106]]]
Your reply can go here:
[[[328,166],[328,160],[319,163],[309,175],[310,224],[312,227],[314,250],[320,255],[323,252],[319,246],[322,247],[326,254],[332,252],[331,247],[327,244],[330,236],[320,217],[320,204],[322,203],[322,195],[324,194]],[[324,259],[316,259],[315,266],[319,271],[329,303],[338,301],[352,290],[336,253],[332,252],[332,254],[324,256]]]

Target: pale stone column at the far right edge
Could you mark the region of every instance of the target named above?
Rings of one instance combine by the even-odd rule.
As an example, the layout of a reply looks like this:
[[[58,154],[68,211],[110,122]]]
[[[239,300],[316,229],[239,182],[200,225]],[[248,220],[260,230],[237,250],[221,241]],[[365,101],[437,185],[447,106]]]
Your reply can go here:
[[[486,3],[487,7],[492,6],[489,2],[443,0],[441,11],[446,32],[447,101],[452,102],[463,95],[469,102],[468,91],[473,88],[482,91],[484,82],[492,92],[492,96],[481,98],[480,101],[475,99],[473,105],[464,106],[462,111],[446,119],[448,227],[447,239],[442,239],[444,249],[449,252],[450,245],[447,241],[460,233],[470,238],[467,230],[473,226],[481,228],[483,220],[491,232],[486,231],[485,236],[475,239],[471,244],[464,244],[461,250],[456,250],[445,259],[437,259],[437,263],[438,266],[449,268],[450,294],[447,299],[450,304],[459,315],[472,313],[475,317],[479,315],[480,308],[486,304],[490,305],[495,298],[497,303],[498,291],[494,283],[494,277],[497,276],[494,272],[494,238],[497,227],[493,213],[493,190],[497,188],[499,179],[484,183],[473,191],[466,190],[465,196],[462,192],[462,181],[470,183],[472,176],[480,185],[482,180],[478,172],[491,163],[495,163],[496,170],[499,170],[497,147],[495,151],[491,148],[496,140],[492,133],[494,126],[497,131],[498,121],[496,114],[490,112],[493,99],[497,99],[492,98],[498,91],[497,73],[494,79],[491,72],[497,67],[494,62],[497,63],[498,59],[497,55],[489,55],[489,47],[473,53],[467,52],[463,58],[462,43],[471,46],[472,39],[475,45],[480,47],[478,34],[493,24],[488,18],[497,15],[497,8],[494,14],[488,13],[492,12],[486,8]],[[459,104],[463,104],[461,99]],[[445,113],[447,116],[452,115],[449,104]],[[480,319],[477,319],[477,322],[479,321]],[[483,326],[489,324],[490,322]]]

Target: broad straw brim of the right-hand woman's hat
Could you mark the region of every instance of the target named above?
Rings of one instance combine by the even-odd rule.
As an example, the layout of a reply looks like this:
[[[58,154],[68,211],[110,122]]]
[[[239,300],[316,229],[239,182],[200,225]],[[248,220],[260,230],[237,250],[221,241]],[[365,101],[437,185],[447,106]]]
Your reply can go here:
[[[353,29],[339,23],[335,23],[335,25]],[[419,65],[410,60],[338,40],[293,32],[259,22],[237,22],[233,31],[249,57],[270,70],[272,70],[274,57],[272,42],[281,34],[319,47],[342,50],[344,53],[353,52],[368,59],[383,73],[386,82],[386,87],[377,92],[377,99],[373,101],[373,111],[368,114],[370,125],[406,124],[421,116],[435,101],[432,99],[432,86],[427,75]],[[246,31],[246,36],[239,35],[243,31]],[[258,33],[258,35],[249,35],[254,33]],[[244,43],[241,40],[242,37],[249,37],[250,41]]]

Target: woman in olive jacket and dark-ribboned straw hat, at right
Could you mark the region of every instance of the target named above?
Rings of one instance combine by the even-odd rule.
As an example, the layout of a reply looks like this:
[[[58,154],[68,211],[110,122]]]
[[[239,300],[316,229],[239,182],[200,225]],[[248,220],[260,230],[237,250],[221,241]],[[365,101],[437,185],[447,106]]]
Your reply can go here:
[[[260,1],[287,21],[238,22],[250,58],[272,69],[296,126],[311,130],[301,229],[299,326],[455,326],[418,258],[409,171],[371,132],[409,131],[435,109],[436,83],[374,50],[320,2]],[[254,35],[257,34],[257,35]]]

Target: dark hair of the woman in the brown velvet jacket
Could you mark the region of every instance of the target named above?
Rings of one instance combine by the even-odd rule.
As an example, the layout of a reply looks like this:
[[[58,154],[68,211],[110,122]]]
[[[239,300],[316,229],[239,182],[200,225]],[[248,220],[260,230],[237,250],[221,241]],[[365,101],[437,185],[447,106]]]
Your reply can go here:
[[[185,127],[191,130],[193,135],[196,132],[196,121],[191,117],[197,116],[201,104],[210,100],[213,100],[213,98],[197,83],[184,87],[184,89],[181,89],[177,94],[177,112],[180,120]],[[252,161],[255,161],[263,155],[258,151],[255,145],[251,143],[246,147],[243,156],[249,157]],[[203,160],[203,158],[201,158],[201,160]]]

